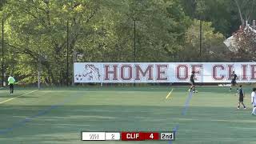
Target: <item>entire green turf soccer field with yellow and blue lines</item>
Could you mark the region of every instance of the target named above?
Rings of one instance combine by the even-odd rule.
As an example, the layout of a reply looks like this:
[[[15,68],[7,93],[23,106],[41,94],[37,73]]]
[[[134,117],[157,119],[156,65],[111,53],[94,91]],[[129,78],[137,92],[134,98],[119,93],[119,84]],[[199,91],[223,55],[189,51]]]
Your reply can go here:
[[[237,110],[229,87],[91,87],[0,89],[0,143],[128,144],[82,142],[81,131],[172,131],[174,144],[256,143],[256,117],[245,87],[247,110]],[[174,89],[170,97],[166,95]],[[23,95],[22,95],[23,94]],[[186,106],[186,103],[189,104]]]

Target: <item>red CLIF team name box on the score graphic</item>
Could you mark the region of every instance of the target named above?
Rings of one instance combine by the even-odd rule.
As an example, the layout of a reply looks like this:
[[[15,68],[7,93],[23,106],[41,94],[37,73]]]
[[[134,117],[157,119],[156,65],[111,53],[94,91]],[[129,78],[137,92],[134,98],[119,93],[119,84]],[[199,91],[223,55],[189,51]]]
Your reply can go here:
[[[142,132],[122,132],[122,141],[144,141]]]

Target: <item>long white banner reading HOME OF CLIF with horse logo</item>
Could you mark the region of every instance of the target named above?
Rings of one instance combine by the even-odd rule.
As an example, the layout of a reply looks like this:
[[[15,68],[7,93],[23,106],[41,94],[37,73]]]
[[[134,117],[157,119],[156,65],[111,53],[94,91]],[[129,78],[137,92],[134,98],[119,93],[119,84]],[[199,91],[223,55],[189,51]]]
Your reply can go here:
[[[256,82],[255,62],[74,62],[74,82]]]

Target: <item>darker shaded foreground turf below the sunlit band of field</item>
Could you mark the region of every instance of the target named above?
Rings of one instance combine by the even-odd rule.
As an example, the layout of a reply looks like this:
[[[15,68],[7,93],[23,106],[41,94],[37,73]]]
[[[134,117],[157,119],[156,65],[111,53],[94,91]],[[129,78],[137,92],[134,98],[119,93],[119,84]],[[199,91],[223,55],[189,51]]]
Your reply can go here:
[[[0,141],[77,143],[81,142],[81,130],[170,131],[176,124],[180,126],[178,138],[188,141],[190,138],[198,138],[196,142],[200,138],[234,138],[234,142],[239,142],[239,137],[254,138],[251,125],[255,118],[250,110],[235,110],[235,107],[190,106],[183,116],[182,106],[59,106],[15,127],[15,123],[47,107],[0,106],[0,130],[14,126],[8,133],[0,134]]]

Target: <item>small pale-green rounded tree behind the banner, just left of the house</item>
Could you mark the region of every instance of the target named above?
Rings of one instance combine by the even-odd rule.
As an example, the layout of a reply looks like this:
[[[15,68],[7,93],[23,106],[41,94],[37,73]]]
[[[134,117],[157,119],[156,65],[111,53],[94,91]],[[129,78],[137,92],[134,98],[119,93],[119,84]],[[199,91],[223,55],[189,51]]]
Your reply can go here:
[[[202,22],[202,60],[203,62],[223,62],[228,60],[225,54],[228,52],[223,44],[224,36],[215,33],[211,22]],[[186,31],[184,48],[180,51],[180,61],[198,62],[199,57],[199,21],[194,19],[192,25]]]

